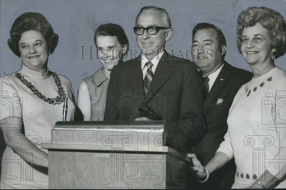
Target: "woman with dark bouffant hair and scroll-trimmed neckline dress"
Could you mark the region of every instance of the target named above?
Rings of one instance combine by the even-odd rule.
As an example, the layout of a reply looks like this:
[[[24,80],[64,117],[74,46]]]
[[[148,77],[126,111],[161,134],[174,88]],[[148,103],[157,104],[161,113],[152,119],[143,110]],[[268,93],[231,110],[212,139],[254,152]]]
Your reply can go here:
[[[22,66],[0,78],[0,95],[7,97],[0,105],[0,125],[7,145],[3,159],[14,160],[2,162],[0,188],[47,189],[48,154],[40,145],[51,143],[51,129],[63,119],[66,98],[66,120],[74,120],[74,92],[66,77],[47,67],[59,37],[43,15],[20,15],[10,37],[8,45]]]

